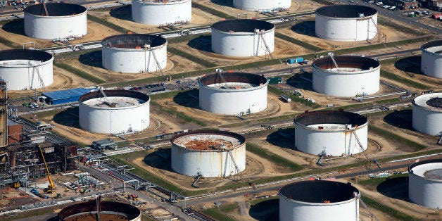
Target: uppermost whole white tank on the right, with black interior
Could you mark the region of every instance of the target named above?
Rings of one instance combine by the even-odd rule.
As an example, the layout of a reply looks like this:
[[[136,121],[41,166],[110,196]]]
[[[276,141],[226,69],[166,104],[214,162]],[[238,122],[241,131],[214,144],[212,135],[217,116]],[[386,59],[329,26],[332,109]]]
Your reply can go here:
[[[377,10],[359,5],[334,5],[317,8],[317,37],[340,42],[366,41],[376,37]]]

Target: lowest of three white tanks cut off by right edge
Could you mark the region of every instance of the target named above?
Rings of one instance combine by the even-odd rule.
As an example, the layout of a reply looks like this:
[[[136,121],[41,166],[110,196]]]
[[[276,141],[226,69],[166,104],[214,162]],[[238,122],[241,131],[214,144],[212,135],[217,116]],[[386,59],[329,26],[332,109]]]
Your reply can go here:
[[[442,159],[422,160],[408,167],[408,198],[428,208],[442,208]]]

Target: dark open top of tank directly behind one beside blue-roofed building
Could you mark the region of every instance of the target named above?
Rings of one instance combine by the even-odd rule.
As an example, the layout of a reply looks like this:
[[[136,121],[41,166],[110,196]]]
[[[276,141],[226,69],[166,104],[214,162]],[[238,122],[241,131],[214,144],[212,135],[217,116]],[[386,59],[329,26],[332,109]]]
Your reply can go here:
[[[144,49],[145,44],[151,47],[161,46],[168,42],[163,37],[155,34],[117,34],[103,39],[101,44],[120,49]]]

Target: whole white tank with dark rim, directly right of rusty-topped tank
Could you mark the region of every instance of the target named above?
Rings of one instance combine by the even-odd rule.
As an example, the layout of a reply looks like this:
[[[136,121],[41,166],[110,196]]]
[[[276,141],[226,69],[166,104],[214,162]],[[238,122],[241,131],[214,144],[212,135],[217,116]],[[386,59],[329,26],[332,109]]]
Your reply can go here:
[[[351,156],[367,149],[368,120],[357,113],[343,110],[305,111],[296,116],[294,125],[295,148],[303,153]]]

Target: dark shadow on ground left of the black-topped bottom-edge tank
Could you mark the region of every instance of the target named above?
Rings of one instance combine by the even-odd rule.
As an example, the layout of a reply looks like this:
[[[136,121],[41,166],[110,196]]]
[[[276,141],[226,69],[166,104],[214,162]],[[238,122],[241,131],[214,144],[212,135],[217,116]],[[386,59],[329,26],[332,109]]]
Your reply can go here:
[[[279,199],[274,198],[251,205],[248,215],[255,220],[279,220]]]

